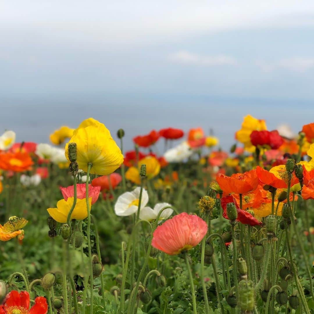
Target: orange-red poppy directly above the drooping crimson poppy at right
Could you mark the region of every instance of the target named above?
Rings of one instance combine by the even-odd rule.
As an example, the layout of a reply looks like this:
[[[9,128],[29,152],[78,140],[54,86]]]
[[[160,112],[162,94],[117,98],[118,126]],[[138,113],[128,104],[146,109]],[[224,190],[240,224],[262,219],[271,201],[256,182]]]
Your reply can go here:
[[[256,170],[236,173],[230,177],[219,173],[216,176],[216,181],[226,194],[245,194],[255,190],[259,183]]]

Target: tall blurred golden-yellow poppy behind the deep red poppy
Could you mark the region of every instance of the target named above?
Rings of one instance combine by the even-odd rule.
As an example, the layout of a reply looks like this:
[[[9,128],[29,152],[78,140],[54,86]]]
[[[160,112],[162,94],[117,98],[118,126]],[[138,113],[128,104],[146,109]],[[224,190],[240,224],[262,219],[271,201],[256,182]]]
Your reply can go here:
[[[250,115],[243,118],[241,124],[241,130],[236,132],[236,139],[244,144],[244,149],[249,152],[254,152],[255,146],[251,143],[250,135],[252,131],[264,131],[267,130],[265,120],[258,120]]]

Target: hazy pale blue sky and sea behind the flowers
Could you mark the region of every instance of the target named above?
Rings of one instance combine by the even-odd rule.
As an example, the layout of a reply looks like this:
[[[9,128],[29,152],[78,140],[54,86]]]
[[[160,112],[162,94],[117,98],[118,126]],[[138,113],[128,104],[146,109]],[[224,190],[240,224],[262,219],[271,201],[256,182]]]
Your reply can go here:
[[[313,122],[313,1],[0,2],[0,131],[47,142],[88,116],[127,140],[242,117]]]

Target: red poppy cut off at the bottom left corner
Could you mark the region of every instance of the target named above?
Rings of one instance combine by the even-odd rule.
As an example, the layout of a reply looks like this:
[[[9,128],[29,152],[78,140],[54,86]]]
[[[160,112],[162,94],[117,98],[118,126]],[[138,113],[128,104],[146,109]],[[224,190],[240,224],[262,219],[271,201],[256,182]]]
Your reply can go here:
[[[30,295],[26,291],[10,291],[0,305],[0,314],[46,314],[47,311],[47,301],[42,296],[38,296],[30,308]]]

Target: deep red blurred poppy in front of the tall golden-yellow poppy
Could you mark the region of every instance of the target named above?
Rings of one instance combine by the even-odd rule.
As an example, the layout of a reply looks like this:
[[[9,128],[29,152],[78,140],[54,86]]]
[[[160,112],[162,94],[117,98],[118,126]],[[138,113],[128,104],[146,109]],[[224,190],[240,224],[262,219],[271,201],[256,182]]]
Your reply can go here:
[[[277,130],[274,131],[252,131],[250,135],[252,145],[269,146],[271,149],[278,149],[283,143],[283,138]]]

